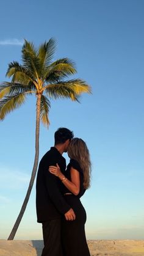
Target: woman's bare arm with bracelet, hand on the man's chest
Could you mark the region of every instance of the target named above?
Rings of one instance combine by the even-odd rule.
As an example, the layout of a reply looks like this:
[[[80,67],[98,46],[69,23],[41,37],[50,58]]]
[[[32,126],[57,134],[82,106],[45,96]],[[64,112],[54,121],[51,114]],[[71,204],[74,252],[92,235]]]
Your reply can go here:
[[[62,172],[60,172],[58,164],[57,166],[49,166],[49,172],[59,177],[63,185],[65,185],[65,187],[68,188],[68,190],[70,190],[74,194],[74,196],[77,196],[79,194],[80,178],[79,172],[76,169],[74,169],[73,167],[71,167],[70,169],[71,181],[68,180],[65,175],[62,174]]]

